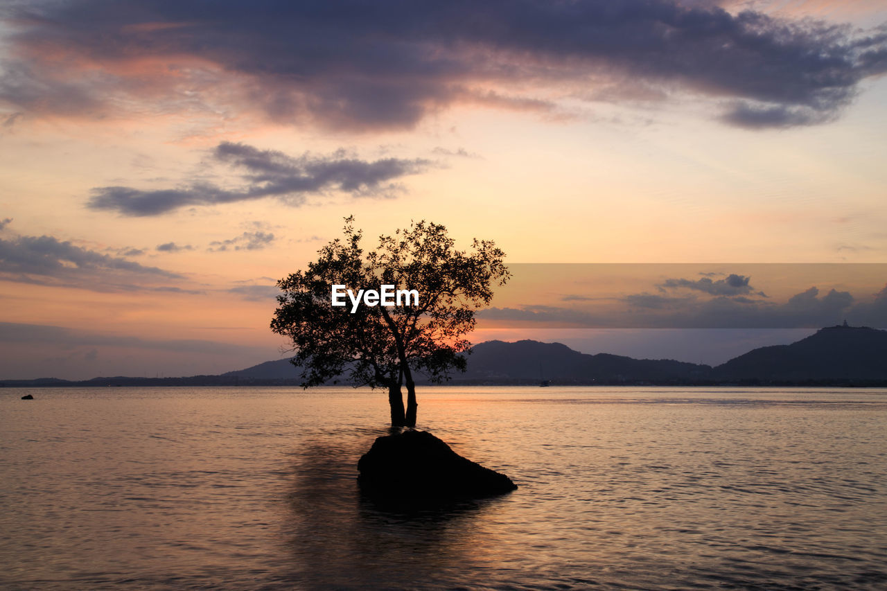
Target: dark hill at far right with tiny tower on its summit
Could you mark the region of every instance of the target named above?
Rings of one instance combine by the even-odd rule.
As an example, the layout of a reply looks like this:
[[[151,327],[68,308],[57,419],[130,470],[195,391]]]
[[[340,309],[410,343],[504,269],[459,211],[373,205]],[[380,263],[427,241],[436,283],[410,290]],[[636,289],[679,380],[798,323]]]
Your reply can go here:
[[[887,331],[820,328],[788,345],[761,347],[715,367],[715,380],[759,382],[887,380]]]

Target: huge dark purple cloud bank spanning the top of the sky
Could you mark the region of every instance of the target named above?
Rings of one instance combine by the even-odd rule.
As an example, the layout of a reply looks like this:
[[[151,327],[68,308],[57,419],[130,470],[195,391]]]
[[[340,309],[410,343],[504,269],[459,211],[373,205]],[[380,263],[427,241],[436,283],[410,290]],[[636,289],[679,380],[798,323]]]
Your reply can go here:
[[[684,94],[725,106],[727,124],[762,129],[828,122],[887,71],[887,28],[719,4],[20,3],[5,11],[15,57],[0,99],[16,112],[97,118],[198,103],[378,130],[457,103],[545,113],[559,98]]]

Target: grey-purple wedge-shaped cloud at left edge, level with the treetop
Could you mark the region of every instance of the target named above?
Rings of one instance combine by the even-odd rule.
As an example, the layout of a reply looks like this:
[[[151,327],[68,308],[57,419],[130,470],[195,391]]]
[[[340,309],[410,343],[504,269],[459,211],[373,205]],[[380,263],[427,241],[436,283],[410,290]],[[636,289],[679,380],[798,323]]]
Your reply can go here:
[[[140,283],[184,279],[175,272],[98,253],[46,235],[0,239],[0,278],[95,291],[178,289],[146,287]]]

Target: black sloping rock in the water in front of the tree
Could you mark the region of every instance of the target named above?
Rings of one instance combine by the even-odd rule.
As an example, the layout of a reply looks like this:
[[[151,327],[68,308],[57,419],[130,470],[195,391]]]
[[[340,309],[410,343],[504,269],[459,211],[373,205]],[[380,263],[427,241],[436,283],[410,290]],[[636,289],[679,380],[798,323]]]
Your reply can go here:
[[[517,488],[511,478],[463,458],[426,431],[378,437],[357,469],[364,493],[381,498],[479,498]]]

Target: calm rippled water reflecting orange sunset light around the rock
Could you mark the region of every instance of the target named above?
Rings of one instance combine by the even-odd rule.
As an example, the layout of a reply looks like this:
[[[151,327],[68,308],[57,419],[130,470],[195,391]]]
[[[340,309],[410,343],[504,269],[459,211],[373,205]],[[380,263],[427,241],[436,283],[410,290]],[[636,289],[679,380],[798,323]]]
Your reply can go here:
[[[426,388],[420,428],[520,489],[423,510],[358,493],[387,412],[0,390],[0,587],[887,586],[887,390]]]

